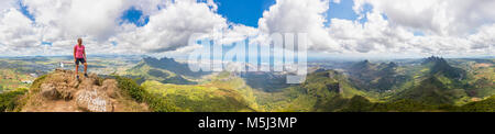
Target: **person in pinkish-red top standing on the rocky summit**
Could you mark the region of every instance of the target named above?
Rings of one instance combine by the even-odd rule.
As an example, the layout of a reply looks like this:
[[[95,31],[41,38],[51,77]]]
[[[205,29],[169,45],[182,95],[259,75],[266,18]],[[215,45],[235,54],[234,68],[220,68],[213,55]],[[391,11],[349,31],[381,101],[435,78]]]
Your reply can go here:
[[[76,63],[76,78],[79,79],[79,63],[85,65],[85,77],[88,77],[88,64],[86,64],[86,51],[85,45],[82,45],[82,40],[77,38],[77,45],[74,46],[74,62]]]

